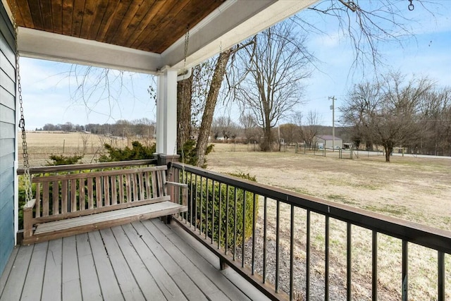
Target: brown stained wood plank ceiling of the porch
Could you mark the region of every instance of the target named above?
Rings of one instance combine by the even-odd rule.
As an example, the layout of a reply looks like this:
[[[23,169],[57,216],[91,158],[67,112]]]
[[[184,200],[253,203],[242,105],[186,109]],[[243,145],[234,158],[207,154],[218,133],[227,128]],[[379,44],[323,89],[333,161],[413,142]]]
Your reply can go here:
[[[161,54],[225,0],[7,0],[18,26]]]

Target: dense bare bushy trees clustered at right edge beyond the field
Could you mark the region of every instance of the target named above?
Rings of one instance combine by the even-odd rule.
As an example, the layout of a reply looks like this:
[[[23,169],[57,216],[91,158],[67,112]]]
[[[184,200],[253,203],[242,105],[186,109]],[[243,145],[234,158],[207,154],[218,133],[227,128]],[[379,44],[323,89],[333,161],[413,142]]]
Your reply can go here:
[[[354,145],[395,147],[415,154],[451,155],[451,88],[426,77],[387,73],[350,90],[340,108]]]

